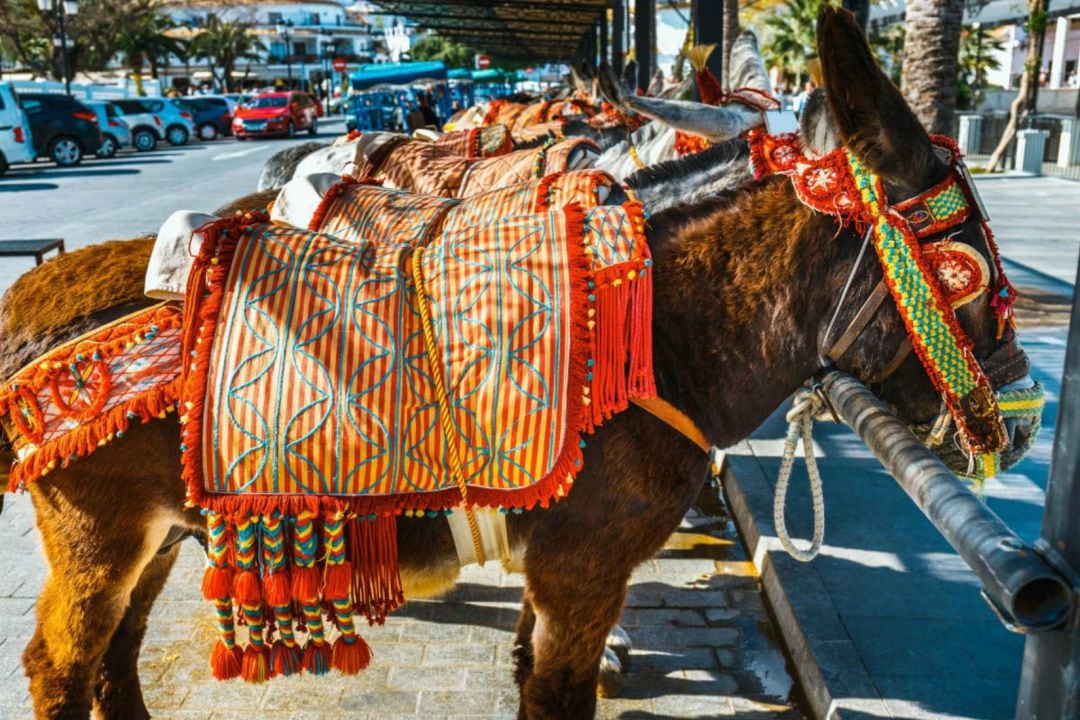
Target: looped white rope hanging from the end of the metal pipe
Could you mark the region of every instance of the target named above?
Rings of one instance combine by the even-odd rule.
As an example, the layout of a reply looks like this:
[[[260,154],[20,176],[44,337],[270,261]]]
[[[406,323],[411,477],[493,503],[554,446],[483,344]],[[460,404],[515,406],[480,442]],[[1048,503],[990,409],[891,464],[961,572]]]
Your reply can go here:
[[[780,476],[777,478],[777,491],[772,498],[772,522],[777,528],[777,536],[787,554],[800,562],[809,562],[821,552],[825,540],[825,498],[821,489],[821,473],[813,457],[813,419],[825,410],[821,397],[809,389],[802,389],[795,394],[795,403],[787,411],[787,437],[784,439],[784,457],[780,463]],[[784,503],[787,501],[787,485],[792,479],[792,468],[795,466],[795,450],[799,438],[802,438],[802,454],[807,461],[807,475],[810,478],[810,500],[813,504],[813,539],[810,547],[800,549],[795,546],[787,532],[787,520],[784,517]]]

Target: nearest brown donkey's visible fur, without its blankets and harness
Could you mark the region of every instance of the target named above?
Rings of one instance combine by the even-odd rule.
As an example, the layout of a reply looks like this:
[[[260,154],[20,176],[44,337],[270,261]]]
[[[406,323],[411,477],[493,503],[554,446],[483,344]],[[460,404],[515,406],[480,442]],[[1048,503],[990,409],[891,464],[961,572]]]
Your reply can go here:
[[[888,196],[910,198],[946,177],[850,13],[823,11],[818,43],[837,136],[882,178]],[[955,242],[988,254],[976,218],[954,232]],[[841,302],[861,237],[802,205],[780,177],[654,214],[647,240],[658,390],[718,447],[748,435],[820,369],[834,311],[850,323],[881,279],[876,264],[862,266]],[[33,307],[3,312],[25,316]],[[974,355],[991,354],[989,298],[958,316]],[[867,379],[905,336],[887,302],[840,365]],[[6,342],[0,356],[17,352]],[[909,422],[937,415],[941,398],[910,356],[875,386]],[[1017,445],[1025,432],[1015,429]],[[523,719],[593,717],[598,661],[631,572],[678,526],[707,465],[694,443],[637,408],[598,430],[584,458],[564,500],[509,519],[526,576],[514,670]],[[176,559],[173,540],[201,527],[199,513],[183,508],[179,425],[132,427],[29,491],[51,569],[24,653],[37,717],[85,718],[92,708],[148,717],[136,670],[146,620]],[[406,595],[453,585],[458,560],[445,521],[403,517],[397,528]]]

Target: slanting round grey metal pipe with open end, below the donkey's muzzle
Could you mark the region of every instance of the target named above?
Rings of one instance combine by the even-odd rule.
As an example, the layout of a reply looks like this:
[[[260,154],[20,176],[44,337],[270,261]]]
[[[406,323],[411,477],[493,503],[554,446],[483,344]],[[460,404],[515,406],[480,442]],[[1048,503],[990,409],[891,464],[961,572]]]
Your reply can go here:
[[[978,575],[1003,621],[1020,629],[1045,629],[1066,617],[1075,600],[1071,587],[885,403],[839,370],[829,371],[822,385],[840,418]]]

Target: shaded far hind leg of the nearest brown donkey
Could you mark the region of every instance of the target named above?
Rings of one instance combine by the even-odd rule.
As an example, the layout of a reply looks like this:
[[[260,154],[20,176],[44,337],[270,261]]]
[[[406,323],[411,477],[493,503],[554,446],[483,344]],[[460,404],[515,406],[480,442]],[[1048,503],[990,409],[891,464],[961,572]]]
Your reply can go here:
[[[138,654],[150,610],[165,587],[179,553],[179,543],[157,553],[132,590],[127,612],[105,651],[94,691],[97,715],[103,720],[145,720],[150,717],[138,680]]]

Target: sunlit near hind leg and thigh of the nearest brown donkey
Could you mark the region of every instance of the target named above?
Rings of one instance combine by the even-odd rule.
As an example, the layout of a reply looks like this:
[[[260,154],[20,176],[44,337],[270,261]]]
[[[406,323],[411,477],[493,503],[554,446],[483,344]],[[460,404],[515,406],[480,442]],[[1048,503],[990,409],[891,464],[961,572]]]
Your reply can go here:
[[[123,440],[30,485],[49,561],[23,653],[39,719],[89,717],[133,590],[170,528],[191,520],[180,514],[178,444],[175,422],[132,427]]]

